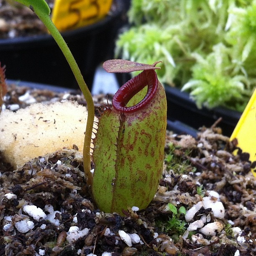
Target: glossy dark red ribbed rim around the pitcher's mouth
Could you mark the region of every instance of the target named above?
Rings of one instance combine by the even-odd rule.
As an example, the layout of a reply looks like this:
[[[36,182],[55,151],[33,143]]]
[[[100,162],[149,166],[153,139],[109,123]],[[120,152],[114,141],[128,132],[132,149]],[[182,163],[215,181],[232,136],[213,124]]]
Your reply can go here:
[[[131,100],[131,98],[141,91],[146,85],[148,85],[148,91],[138,104],[126,107],[126,104]],[[122,87],[115,93],[112,105],[115,110],[123,113],[134,113],[141,108],[144,108],[156,94],[158,87],[158,79],[156,72],[154,70],[144,70],[136,77],[123,84]]]

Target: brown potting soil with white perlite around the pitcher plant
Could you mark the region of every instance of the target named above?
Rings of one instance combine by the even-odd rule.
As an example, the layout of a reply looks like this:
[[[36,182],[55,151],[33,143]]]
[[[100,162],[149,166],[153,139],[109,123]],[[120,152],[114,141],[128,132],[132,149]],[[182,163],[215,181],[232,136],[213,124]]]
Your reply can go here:
[[[18,97],[27,91],[9,87],[5,107],[25,108],[28,104]],[[30,93],[47,104],[64,96]],[[85,105],[75,92],[65,98]],[[104,108],[107,97],[97,95],[94,101]],[[108,101],[111,105],[111,95]],[[233,155],[235,148],[236,141],[230,142],[216,124],[202,128],[197,138],[166,131],[165,168],[156,196],[145,210],[127,209],[125,216],[94,205],[75,147],[31,159],[17,170],[0,157],[0,255],[255,255],[256,179],[250,171],[255,163],[241,152]],[[224,207],[225,214],[221,207],[218,212],[224,218],[216,215],[216,204],[199,207],[188,220],[188,211],[206,199]],[[25,205],[40,208],[47,218],[36,219]],[[21,232],[21,221],[30,228]],[[191,224],[198,221],[204,228],[212,225],[212,233],[202,226],[193,230]],[[72,240],[72,229],[84,234]],[[120,230],[137,234],[131,245]]]

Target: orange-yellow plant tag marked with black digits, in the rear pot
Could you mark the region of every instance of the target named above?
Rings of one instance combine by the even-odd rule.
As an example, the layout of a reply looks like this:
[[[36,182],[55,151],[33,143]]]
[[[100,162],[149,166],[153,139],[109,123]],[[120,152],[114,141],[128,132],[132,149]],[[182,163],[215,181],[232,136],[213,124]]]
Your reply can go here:
[[[112,0],[55,0],[52,21],[59,31],[90,25],[103,18]]]

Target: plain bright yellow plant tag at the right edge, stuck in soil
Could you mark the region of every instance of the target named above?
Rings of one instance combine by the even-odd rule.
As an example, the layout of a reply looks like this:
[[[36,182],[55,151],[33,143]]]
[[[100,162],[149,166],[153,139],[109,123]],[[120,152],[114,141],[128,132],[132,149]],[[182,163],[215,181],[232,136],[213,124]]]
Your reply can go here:
[[[256,161],[256,89],[251,96],[230,139],[238,139],[238,147],[250,154],[250,161]],[[252,170],[256,177],[256,167]]]

